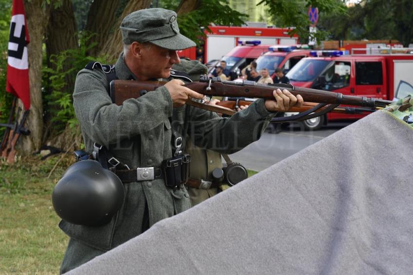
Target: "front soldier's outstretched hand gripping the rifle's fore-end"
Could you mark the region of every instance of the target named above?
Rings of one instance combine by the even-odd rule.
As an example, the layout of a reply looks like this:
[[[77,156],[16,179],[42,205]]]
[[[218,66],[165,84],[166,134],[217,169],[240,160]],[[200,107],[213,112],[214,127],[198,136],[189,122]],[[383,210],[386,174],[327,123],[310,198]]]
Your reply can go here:
[[[303,97],[300,95],[295,97],[288,90],[276,89],[273,91],[273,95],[275,100],[265,100],[265,108],[270,112],[286,112],[291,107],[303,106]]]

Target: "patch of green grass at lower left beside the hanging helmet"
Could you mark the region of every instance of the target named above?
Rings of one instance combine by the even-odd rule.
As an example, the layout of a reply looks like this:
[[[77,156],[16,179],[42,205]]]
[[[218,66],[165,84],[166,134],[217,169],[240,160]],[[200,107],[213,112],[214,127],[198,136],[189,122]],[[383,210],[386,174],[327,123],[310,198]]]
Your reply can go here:
[[[0,160],[0,274],[59,273],[69,237],[58,227],[51,194],[72,163],[66,156],[48,179],[59,158]]]

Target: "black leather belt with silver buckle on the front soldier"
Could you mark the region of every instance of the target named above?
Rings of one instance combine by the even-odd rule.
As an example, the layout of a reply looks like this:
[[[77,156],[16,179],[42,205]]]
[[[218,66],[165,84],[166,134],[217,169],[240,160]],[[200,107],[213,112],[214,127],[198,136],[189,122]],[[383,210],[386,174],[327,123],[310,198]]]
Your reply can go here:
[[[142,167],[132,170],[116,170],[115,174],[120,178],[122,182],[134,182],[164,178],[162,168],[160,167]]]

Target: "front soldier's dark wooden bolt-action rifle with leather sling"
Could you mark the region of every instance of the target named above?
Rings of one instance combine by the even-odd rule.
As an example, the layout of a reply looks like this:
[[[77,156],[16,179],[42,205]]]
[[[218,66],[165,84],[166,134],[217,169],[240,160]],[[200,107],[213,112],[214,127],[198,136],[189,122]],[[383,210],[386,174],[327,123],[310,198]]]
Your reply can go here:
[[[165,84],[166,82],[163,81],[114,80],[110,83],[110,97],[112,98],[112,102],[121,105],[122,102],[128,98],[138,98]],[[274,120],[275,122],[287,122],[310,119],[330,112],[342,104],[376,109],[377,107],[386,107],[386,105],[393,102],[378,98],[345,96],[341,93],[298,87],[291,84],[258,84],[254,81],[222,81],[220,78],[209,78],[206,76],[201,76],[199,81],[187,83],[185,86],[197,93],[210,97],[257,97],[273,100],[273,91],[275,89],[286,89],[294,96],[301,95],[305,102],[318,103],[313,107],[307,108],[307,110],[302,113],[288,117],[277,117],[273,119],[273,122]],[[226,108],[210,106],[193,100],[188,100],[187,104],[219,113],[234,113]],[[297,112],[293,110],[294,109],[289,110],[289,112]],[[367,109],[364,108],[364,111],[366,110]],[[345,112],[345,109],[342,109],[342,111]]]

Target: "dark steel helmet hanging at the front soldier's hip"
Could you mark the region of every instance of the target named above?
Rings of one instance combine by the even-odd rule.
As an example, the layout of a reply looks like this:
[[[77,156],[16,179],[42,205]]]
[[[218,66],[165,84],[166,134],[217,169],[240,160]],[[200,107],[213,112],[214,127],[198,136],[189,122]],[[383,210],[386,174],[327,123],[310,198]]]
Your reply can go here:
[[[110,222],[123,199],[123,185],[118,176],[92,160],[72,164],[52,194],[53,208],[59,217],[87,226]]]

